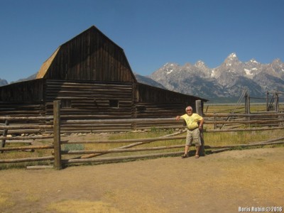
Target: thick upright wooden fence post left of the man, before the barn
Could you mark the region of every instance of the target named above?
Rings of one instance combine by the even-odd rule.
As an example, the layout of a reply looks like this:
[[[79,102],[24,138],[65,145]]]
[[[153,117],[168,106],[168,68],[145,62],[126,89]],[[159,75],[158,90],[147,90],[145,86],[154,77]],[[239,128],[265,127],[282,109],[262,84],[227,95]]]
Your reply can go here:
[[[54,138],[54,165],[55,170],[62,169],[60,146],[60,101],[53,102],[53,138]]]

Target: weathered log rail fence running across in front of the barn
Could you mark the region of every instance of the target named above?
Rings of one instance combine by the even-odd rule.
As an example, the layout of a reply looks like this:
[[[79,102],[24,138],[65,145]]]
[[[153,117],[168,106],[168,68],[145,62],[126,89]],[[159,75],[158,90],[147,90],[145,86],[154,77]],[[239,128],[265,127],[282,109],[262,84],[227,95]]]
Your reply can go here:
[[[140,139],[121,139],[121,140],[99,140],[99,141],[72,141],[65,140],[61,136],[60,126],[62,122],[60,121],[60,102],[55,101],[53,105],[53,116],[45,116],[45,117],[0,117],[0,120],[3,121],[0,129],[3,131],[2,136],[0,136],[1,140],[1,153],[8,151],[27,151],[27,150],[38,150],[38,149],[50,149],[50,155],[42,156],[37,158],[18,158],[18,159],[0,159],[0,163],[21,163],[21,162],[31,162],[31,161],[40,161],[40,160],[51,160],[53,163],[53,167],[57,170],[62,169],[63,165],[69,165],[73,163],[99,163],[106,161],[121,161],[121,160],[133,160],[139,158],[154,158],[159,156],[168,156],[168,155],[180,155],[183,153],[184,142],[180,144],[171,144],[167,143],[167,145],[163,146],[143,146],[141,148],[134,148],[135,146],[145,145],[147,143],[153,143],[155,141],[173,141],[180,140],[184,141],[185,134],[185,126],[182,121],[175,121],[175,118],[164,118],[164,119],[117,119],[117,120],[89,120],[89,121],[72,121],[67,120],[64,121],[67,124],[84,124],[84,122],[91,123],[92,125],[102,127],[104,125],[117,125],[117,124],[129,124],[133,127],[136,127],[135,124],[151,124],[152,127],[158,129],[167,129],[167,126],[158,126],[161,122],[163,124],[175,124],[169,125],[168,128],[173,129],[175,133],[160,136],[158,138],[140,138]],[[214,133],[214,132],[229,132],[229,131],[265,131],[265,130],[273,130],[273,129],[284,129],[284,119],[283,113],[265,113],[265,114],[204,114],[204,132]],[[228,119],[229,118],[229,119]],[[32,121],[34,119],[38,119],[40,121],[39,125],[28,124],[28,121]],[[13,121],[16,123],[13,124]],[[53,122],[53,124],[50,124]],[[33,123],[33,122],[31,122]],[[137,125],[141,126],[141,125]],[[148,129],[151,128],[148,126]],[[136,128],[133,128],[136,129]],[[144,129],[144,128],[143,128]],[[13,131],[13,134],[19,134],[21,132],[26,132],[25,130],[33,130],[32,132],[35,135],[26,136],[26,133],[22,133],[21,136],[8,136],[7,133]],[[113,129],[111,129],[113,130]],[[37,133],[45,133],[45,131],[52,131],[51,134],[48,135],[38,135]],[[203,136],[203,134],[202,134]],[[30,143],[30,141],[35,140],[43,140],[50,139],[50,144],[45,145],[32,145],[32,146],[11,146],[5,147],[7,141],[9,143]],[[284,143],[284,138],[275,138],[269,141],[261,141],[259,143],[253,144],[238,144],[231,146],[206,146],[204,144],[204,148],[214,149],[217,151],[226,150],[230,148],[234,148],[236,146],[262,146],[267,144],[275,144],[275,143]],[[66,145],[89,145],[89,144],[115,144],[115,148],[107,148],[107,149],[93,149],[93,150],[63,150],[62,146]],[[30,143],[31,144],[31,143]],[[121,145],[119,145],[121,144]],[[163,150],[167,150],[166,152],[160,152]],[[175,151],[173,151],[175,150]],[[212,152],[215,152],[212,151]],[[140,155],[117,155],[118,153],[143,153]],[[1,154],[0,154],[1,155]],[[94,158],[102,155],[107,155],[104,158]],[[72,157],[75,156],[75,157]]]

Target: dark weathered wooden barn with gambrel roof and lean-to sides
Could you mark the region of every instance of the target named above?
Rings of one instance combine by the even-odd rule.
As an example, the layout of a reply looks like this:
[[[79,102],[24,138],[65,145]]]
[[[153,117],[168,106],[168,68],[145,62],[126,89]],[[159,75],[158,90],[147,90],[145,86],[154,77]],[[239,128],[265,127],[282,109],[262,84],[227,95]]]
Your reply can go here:
[[[137,82],[124,50],[92,26],[63,43],[35,80],[0,87],[0,116],[47,116],[61,102],[62,119],[168,118],[195,107],[194,97]]]

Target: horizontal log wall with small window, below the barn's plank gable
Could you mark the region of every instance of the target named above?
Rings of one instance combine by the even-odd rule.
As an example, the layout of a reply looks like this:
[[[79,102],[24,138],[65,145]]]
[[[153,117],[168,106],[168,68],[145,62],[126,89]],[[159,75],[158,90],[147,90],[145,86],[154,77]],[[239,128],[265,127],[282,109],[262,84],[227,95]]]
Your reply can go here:
[[[47,80],[45,97],[47,115],[53,115],[53,101],[60,100],[62,131],[74,129],[80,132],[80,129],[84,131],[95,129],[94,126],[66,124],[66,120],[130,119],[133,117],[132,83]],[[112,126],[117,129],[116,126]],[[106,128],[109,127],[106,126]],[[131,124],[124,126],[123,129],[130,130]]]

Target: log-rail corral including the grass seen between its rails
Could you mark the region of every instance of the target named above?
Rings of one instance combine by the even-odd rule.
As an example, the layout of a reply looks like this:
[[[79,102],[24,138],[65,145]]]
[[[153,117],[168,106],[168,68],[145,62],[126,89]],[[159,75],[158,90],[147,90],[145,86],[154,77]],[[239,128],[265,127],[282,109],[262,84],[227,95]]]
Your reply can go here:
[[[183,153],[185,126],[183,126],[182,121],[174,121],[175,118],[118,119],[117,121],[97,119],[92,120],[93,124],[86,124],[85,120],[60,121],[60,104],[59,102],[55,102],[54,104],[55,107],[53,108],[58,109],[58,111],[55,111],[53,116],[0,117],[0,119],[7,119],[6,121],[31,121],[33,119],[53,121],[52,125],[42,124],[40,126],[33,124],[26,124],[24,126],[18,124],[9,125],[9,122],[6,122],[6,125],[1,126],[3,134],[0,136],[2,145],[2,148],[0,148],[2,152],[0,163],[14,164],[26,162],[25,165],[33,165],[32,162],[43,162],[44,165],[51,164],[55,168],[61,169],[62,165],[65,166],[74,163],[114,162],[141,158],[157,158],[169,155],[176,156]],[[263,119],[264,117],[266,119]],[[158,121],[160,120],[165,124],[168,121],[174,121],[175,126],[158,126]],[[275,146],[275,144],[284,143],[283,113],[208,113],[204,114],[204,120],[202,139],[205,138],[204,148],[207,153],[247,146]],[[102,129],[107,129],[109,128],[106,127],[108,125],[129,124],[133,126],[133,123],[139,124],[141,122],[151,123],[151,129],[136,127],[136,131],[134,132],[137,133],[125,129],[124,134],[116,133],[118,137],[115,136],[116,134],[113,134],[114,131],[112,131],[112,134],[107,135],[102,135],[102,132],[94,135],[62,135],[60,133],[62,123],[78,126],[100,126]],[[47,132],[48,130],[50,133],[44,133],[43,135],[22,134],[22,136],[18,136],[18,133],[11,133],[13,131],[24,132],[25,130],[36,128],[38,128],[38,132]],[[8,134],[11,135],[8,136]],[[119,137],[120,134],[122,138]],[[271,137],[271,134],[273,137]],[[224,138],[225,141],[218,141],[220,138]],[[139,147],[136,148],[136,146]],[[43,150],[46,151],[43,152]],[[23,152],[26,157],[16,158],[16,156],[21,156]],[[50,155],[51,153],[52,155]],[[201,153],[201,155],[203,154]],[[38,165],[38,163],[35,164]],[[39,165],[41,164],[39,163]]]

